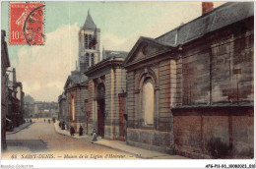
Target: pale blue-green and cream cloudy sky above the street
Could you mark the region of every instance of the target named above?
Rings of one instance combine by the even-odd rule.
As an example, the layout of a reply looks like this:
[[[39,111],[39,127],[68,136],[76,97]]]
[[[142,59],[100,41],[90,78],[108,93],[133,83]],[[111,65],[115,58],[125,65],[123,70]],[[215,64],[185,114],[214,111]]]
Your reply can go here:
[[[224,2],[215,2],[218,7]],[[129,52],[140,36],[156,38],[201,16],[201,2],[45,2],[45,44],[8,44],[11,68],[26,94],[57,101],[78,60],[78,32],[88,10],[100,28],[100,46]],[[9,2],[2,2],[1,29],[9,41]],[[11,69],[9,68],[9,69]]]

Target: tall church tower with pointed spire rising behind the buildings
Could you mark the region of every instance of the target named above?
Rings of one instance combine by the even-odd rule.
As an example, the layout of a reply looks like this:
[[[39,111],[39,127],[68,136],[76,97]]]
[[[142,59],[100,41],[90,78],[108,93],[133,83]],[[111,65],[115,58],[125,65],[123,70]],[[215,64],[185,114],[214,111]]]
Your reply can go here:
[[[79,31],[79,69],[81,73],[99,62],[100,29],[88,10],[87,20]]]

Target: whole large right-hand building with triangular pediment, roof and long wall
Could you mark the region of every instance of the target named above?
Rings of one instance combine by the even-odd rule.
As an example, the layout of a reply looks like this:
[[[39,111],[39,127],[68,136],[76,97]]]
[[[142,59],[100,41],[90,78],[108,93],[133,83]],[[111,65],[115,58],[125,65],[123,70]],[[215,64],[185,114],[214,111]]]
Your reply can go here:
[[[140,37],[130,51],[127,143],[192,158],[252,157],[253,3],[206,12]]]

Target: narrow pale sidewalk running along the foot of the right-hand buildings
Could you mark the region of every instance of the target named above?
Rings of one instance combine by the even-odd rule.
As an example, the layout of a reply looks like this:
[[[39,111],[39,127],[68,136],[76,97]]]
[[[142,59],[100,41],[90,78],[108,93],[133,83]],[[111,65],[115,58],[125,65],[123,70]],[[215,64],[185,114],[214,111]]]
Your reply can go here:
[[[54,127],[55,127],[56,133],[71,137],[68,131],[60,129],[60,127],[58,126],[58,121],[54,123]],[[126,144],[125,141],[109,141],[109,140],[100,139],[100,137],[97,137],[97,141],[92,141],[92,136],[86,135],[86,136],[80,137],[78,134],[76,134],[75,136],[72,136],[71,138],[85,139],[86,141],[91,141],[92,143],[95,143],[98,145],[102,145],[112,149],[130,153],[138,158],[143,158],[143,159],[188,159],[180,155],[169,155],[169,154],[158,152],[158,151],[131,146]]]

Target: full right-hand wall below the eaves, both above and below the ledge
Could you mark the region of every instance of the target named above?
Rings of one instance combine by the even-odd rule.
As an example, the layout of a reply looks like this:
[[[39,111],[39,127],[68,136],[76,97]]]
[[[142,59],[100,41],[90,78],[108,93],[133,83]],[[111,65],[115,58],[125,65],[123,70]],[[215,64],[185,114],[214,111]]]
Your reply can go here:
[[[177,60],[182,65],[177,74],[181,102],[172,109],[177,153],[193,158],[252,156],[252,23],[250,18],[183,46]],[[212,152],[211,146],[220,152]]]

